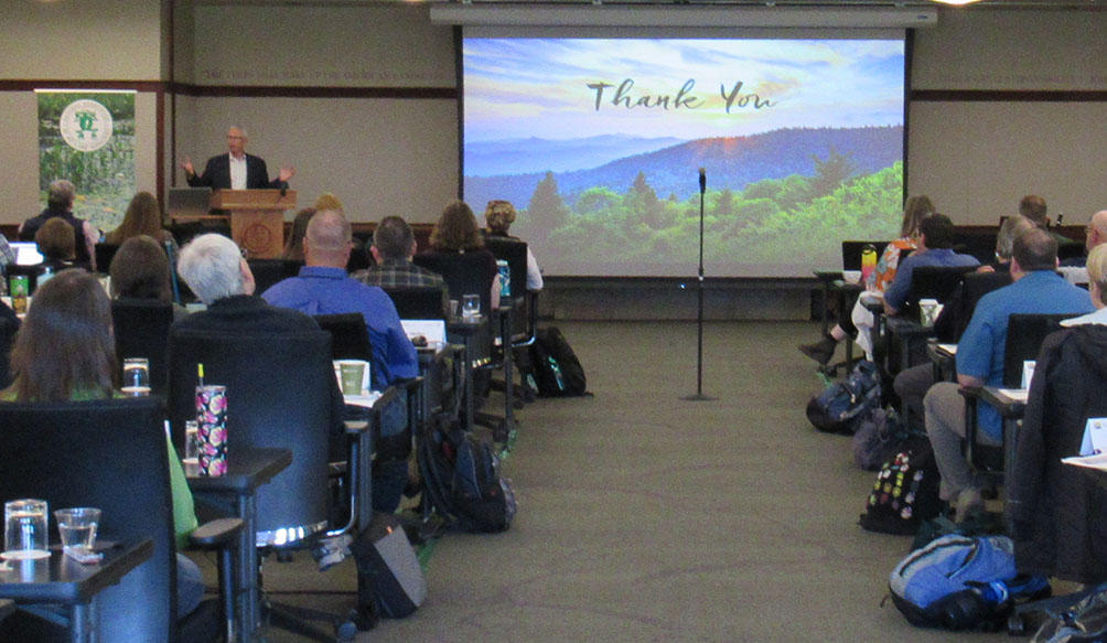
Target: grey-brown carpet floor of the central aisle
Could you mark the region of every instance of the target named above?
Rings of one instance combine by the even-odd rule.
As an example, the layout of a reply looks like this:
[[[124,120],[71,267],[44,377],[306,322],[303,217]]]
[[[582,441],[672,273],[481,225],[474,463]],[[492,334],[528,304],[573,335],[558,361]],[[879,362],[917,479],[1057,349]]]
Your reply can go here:
[[[561,323],[594,397],[520,413],[511,529],[448,533],[420,611],[358,641],[1010,641],[909,625],[888,573],[910,538],[857,527],[875,474],[804,415],[821,390],[798,322]],[[267,563],[269,590],[343,612],[352,561]],[[276,642],[302,641],[276,630]]]

